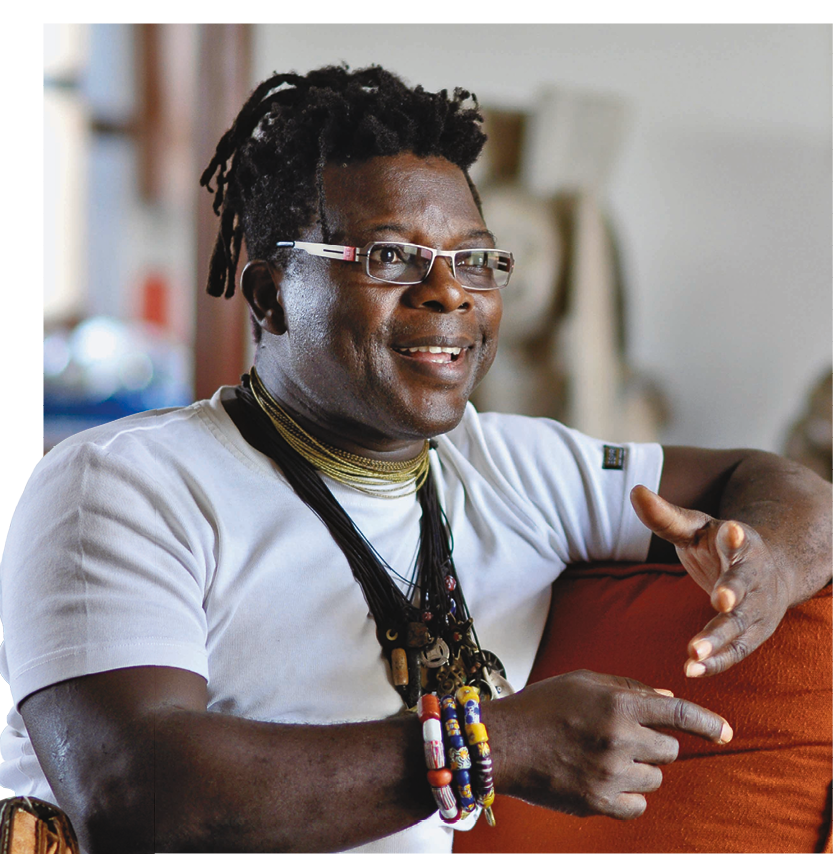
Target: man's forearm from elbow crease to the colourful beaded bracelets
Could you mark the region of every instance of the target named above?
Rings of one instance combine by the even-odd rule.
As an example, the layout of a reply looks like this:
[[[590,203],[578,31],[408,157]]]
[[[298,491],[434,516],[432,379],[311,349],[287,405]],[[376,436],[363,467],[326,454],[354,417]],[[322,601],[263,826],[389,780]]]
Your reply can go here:
[[[412,717],[316,727],[184,713],[161,735],[153,790],[174,851],[341,850],[435,809]],[[188,839],[177,839],[186,814]]]

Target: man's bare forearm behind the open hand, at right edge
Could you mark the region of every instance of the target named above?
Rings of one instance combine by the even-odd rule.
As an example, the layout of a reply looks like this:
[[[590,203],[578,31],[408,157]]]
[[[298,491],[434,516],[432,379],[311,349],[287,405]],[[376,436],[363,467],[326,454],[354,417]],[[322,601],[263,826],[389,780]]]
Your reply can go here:
[[[789,585],[790,605],[833,578],[833,484],[804,466],[750,453],[726,481],[718,515],[761,535]]]

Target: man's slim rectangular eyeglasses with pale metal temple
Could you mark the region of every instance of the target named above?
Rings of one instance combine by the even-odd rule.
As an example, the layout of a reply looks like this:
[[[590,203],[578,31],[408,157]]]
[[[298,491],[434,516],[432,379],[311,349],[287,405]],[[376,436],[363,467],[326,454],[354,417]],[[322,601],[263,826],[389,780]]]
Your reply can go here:
[[[437,257],[448,258],[451,275],[467,290],[491,291],[509,284],[515,260],[501,249],[456,249],[444,252],[416,243],[368,243],[367,246],[333,246],[281,240],[280,249],[301,249],[309,255],[336,261],[364,261],[367,275],[391,285],[418,285],[431,274]]]

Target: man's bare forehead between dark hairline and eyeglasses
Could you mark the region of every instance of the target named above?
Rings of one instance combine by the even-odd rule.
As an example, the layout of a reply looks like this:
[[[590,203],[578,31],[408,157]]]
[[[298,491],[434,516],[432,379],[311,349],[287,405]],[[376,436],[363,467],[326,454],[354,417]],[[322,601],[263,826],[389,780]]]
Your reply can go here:
[[[331,163],[324,193],[334,240],[399,236],[439,246],[485,230],[466,176],[442,157],[406,153]]]

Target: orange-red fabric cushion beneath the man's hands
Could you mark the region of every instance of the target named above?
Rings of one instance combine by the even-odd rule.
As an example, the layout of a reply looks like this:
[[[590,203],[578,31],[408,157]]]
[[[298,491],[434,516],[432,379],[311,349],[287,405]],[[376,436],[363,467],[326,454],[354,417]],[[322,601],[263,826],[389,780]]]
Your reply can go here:
[[[531,682],[581,668],[630,676],[713,709],[735,737],[721,747],[681,735],[679,759],[638,819],[575,818],[498,796],[497,826],[455,834],[455,854],[833,854],[833,587],[726,673],[687,679],[686,646],[712,616],[679,566],[565,573]]]

